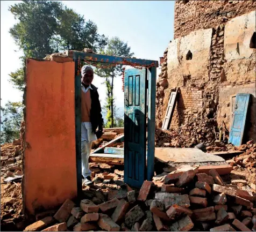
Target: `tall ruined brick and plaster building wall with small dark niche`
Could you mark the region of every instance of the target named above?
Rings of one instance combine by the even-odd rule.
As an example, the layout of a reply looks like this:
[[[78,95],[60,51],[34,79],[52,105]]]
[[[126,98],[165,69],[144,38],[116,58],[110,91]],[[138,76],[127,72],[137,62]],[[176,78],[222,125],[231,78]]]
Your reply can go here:
[[[158,127],[176,87],[171,129],[207,118],[218,125],[224,121],[229,129],[229,93],[251,93],[248,138],[256,139],[255,7],[255,1],[175,2],[175,39],[164,53],[157,83]]]

